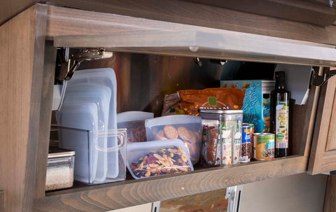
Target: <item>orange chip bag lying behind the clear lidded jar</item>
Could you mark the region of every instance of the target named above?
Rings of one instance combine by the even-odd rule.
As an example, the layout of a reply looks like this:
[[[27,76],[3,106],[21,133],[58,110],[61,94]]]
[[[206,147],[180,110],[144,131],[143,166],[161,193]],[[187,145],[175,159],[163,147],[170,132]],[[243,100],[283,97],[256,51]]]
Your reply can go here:
[[[186,115],[199,115],[200,108],[241,109],[245,90],[229,87],[180,90],[181,108]]]

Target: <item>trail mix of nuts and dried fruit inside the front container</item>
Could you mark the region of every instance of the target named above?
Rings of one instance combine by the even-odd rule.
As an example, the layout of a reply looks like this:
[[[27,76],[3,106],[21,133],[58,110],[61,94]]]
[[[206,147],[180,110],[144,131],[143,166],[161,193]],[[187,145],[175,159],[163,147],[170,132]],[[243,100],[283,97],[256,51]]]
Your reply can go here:
[[[151,151],[130,166],[138,178],[191,171],[188,155],[179,146]]]

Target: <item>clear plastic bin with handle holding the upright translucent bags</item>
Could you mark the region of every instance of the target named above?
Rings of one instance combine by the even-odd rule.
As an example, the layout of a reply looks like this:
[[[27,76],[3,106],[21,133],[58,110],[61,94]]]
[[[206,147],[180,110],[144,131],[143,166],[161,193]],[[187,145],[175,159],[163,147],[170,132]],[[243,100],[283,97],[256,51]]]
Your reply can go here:
[[[103,131],[58,127],[59,146],[76,151],[74,179],[89,185],[124,181],[126,177],[126,129]],[[107,145],[99,145],[99,141]],[[115,145],[117,144],[117,145]],[[106,147],[107,146],[107,147]],[[111,147],[109,147],[111,146]],[[106,164],[98,162],[98,155],[106,155]],[[113,155],[113,157],[110,157]],[[114,157],[116,155],[117,157]],[[106,177],[94,178],[106,165]]]

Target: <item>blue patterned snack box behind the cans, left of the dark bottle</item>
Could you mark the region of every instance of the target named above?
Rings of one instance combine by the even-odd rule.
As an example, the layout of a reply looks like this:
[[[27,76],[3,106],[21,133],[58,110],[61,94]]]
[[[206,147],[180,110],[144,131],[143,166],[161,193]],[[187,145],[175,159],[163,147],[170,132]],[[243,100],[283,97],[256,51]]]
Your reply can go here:
[[[221,87],[246,90],[243,122],[252,123],[255,132],[269,132],[271,120],[270,93],[274,90],[274,80],[222,80]]]

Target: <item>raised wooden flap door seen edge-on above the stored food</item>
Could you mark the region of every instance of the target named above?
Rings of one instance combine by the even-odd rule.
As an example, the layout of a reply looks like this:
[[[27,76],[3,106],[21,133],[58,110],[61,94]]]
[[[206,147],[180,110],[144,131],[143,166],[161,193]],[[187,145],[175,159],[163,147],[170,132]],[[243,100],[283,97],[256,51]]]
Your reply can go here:
[[[157,31],[55,36],[55,47],[97,48],[158,55],[336,66],[332,46],[233,31]]]

